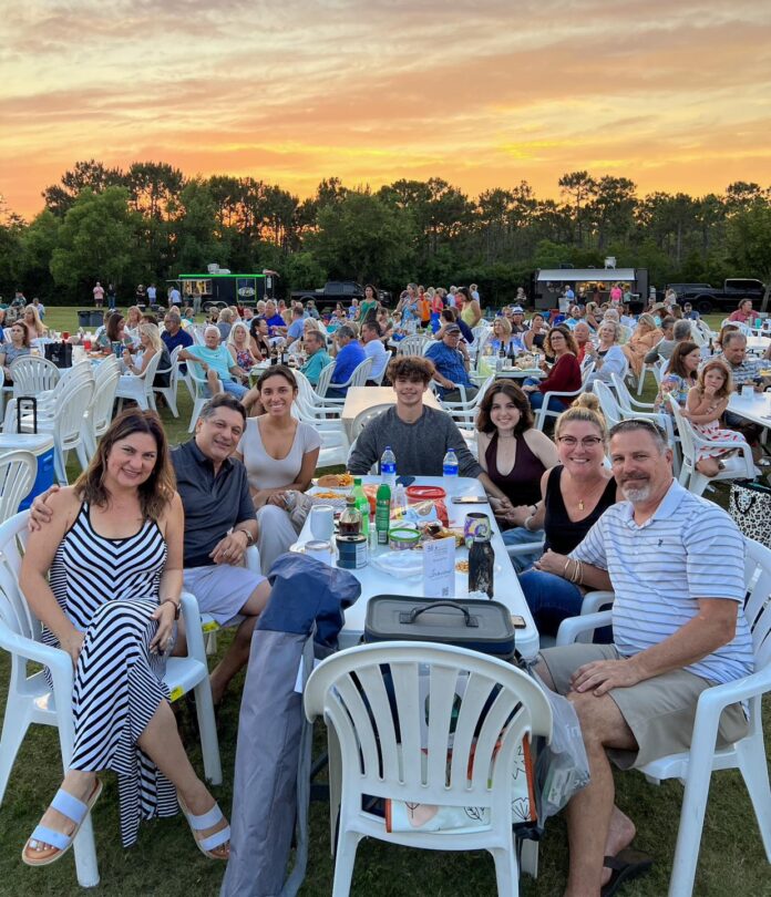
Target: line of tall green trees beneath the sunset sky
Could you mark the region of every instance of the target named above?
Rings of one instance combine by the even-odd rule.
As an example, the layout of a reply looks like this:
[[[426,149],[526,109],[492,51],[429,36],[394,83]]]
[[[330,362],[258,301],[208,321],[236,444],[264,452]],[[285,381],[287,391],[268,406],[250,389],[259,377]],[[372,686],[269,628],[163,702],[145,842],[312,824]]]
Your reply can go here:
[[[511,299],[536,268],[647,267],[649,280],[771,283],[771,187],[730,184],[722,194],[638,196],[627,177],[570,172],[559,199],[526,181],[476,198],[441,178],[380,189],[322,181],[299,199],[251,177],[186,177],[165,163],[127,171],[79,162],[43,190],[27,221],[0,208],[0,295],[22,288],[49,303],[82,303],[96,280],[163,286],[216,261],[234,272],[280,275],[281,289],[354,279],[399,290],[408,281],[480,285],[485,301]],[[163,291],[162,291],[163,292]]]

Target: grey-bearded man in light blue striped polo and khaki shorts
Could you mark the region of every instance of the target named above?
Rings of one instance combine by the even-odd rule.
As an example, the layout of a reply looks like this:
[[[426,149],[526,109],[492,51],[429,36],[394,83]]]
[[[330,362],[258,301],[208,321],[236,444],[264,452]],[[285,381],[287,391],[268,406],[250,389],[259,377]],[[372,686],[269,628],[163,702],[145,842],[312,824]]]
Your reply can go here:
[[[650,865],[627,850],[635,825],[614,804],[608,756],[629,769],[688,751],[701,692],[754,668],[742,536],[721,508],[672,478],[671,460],[656,424],[614,426],[610,461],[627,501],[608,508],[569,557],[547,551],[536,564],[616,595],[615,645],[546,649],[538,666],[578,713],[592,775],[567,806],[567,895],[599,894],[611,878]],[[742,707],[730,705],[718,746],[746,733]]]

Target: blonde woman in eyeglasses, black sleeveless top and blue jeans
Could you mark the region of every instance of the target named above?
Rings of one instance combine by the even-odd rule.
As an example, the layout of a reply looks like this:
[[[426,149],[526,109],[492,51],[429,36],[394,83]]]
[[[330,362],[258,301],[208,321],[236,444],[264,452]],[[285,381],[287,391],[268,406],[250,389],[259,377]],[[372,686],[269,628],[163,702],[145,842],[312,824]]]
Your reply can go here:
[[[607,429],[598,409],[597,396],[585,392],[557,417],[559,463],[542,476],[543,502],[524,522],[526,529],[543,528],[546,537],[541,559],[520,576],[541,635],[555,636],[564,619],[580,614],[587,589],[570,581],[567,555],[621,498],[604,464]]]

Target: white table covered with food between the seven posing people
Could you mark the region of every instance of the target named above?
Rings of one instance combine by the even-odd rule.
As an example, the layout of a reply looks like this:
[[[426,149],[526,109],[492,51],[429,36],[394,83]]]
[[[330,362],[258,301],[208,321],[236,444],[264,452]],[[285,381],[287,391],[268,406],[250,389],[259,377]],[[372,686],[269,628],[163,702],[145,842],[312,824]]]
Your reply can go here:
[[[378,476],[362,477],[364,483],[379,483]],[[421,476],[415,481],[417,485],[431,485],[441,486],[441,476]],[[455,489],[456,495],[469,496],[484,496],[479,480],[472,477],[460,477]],[[482,512],[489,515],[492,527],[493,538],[492,546],[495,551],[495,571],[494,571],[494,595],[493,598],[505,605],[512,614],[520,615],[525,620],[525,628],[516,630],[516,649],[520,653],[527,659],[533,659],[538,653],[538,630],[535,628],[533,617],[531,616],[525,597],[520,587],[520,580],[514,573],[512,563],[508,559],[506,547],[501,538],[501,533],[495,523],[492,508],[486,502],[474,505],[454,505],[448,498],[446,501],[448,514],[450,515],[450,526],[454,528],[462,528],[465,515],[472,512]],[[310,534],[310,524],[306,520],[302,532],[299,536],[299,542],[308,542],[312,536]],[[382,554],[388,551],[388,546],[378,546],[376,551]],[[469,553],[465,548],[459,548],[455,553],[456,560],[465,560]],[[359,643],[361,636],[364,632],[364,618],[367,616],[367,604],[369,599],[376,595],[408,595],[414,598],[423,598],[423,579],[421,577],[412,579],[398,579],[389,576],[387,573],[379,570],[377,567],[368,565],[360,570],[351,570],[357,579],[361,582],[361,596],[359,600],[346,611],[346,622],[340,632],[340,648],[352,648]],[[469,595],[467,589],[469,575],[463,573],[455,574],[455,597],[464,598]],[[430,596],[429,596],[430,597]]]

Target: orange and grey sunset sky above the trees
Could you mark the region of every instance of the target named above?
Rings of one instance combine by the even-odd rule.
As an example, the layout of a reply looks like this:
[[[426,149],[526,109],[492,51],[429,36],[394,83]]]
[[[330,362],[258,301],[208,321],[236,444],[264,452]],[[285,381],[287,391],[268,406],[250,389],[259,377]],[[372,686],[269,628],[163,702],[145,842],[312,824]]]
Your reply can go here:
[[[0,34],[0,194],[28,217],[92,157],[301,197],[771,184],[769,0],[7,0]]]

